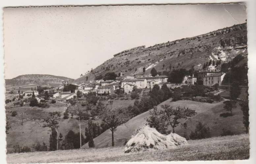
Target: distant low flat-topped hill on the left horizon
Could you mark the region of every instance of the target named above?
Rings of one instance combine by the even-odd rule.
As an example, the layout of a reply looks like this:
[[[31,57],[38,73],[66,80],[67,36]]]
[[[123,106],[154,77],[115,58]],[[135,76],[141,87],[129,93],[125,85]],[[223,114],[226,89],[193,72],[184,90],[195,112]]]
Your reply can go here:
[[[73,79],[63,76],[54,76],[49,74],[25,74],[14,77],[13,79],[5,79],[5,85],[8,86],[19,86],[25,84],[42,84],[46,85],[49,83],[62,84],[62,81],[72,82]]]

